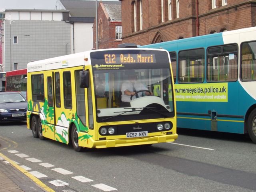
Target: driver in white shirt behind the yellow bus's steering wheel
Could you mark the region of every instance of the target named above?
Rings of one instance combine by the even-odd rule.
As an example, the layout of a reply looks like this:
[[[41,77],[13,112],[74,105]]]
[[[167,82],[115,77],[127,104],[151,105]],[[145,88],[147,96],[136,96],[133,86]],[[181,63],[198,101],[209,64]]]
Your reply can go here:
[[[148,95],[153,95],[152,92],[139,92],[136,95],[136,92],[140,91],[140,90],[148,90],[148,88],[146,88],[146,86],[144,86],[142,83],[140,82],[136,82],[136,76],[135,76],[135,72],[130,72],[130,74],[128,74],[127,77],[127,81],[123,82],[122,84],[122,88],[121,88],[121,92],[122,92],[122,96],[121,96],[121,100],[122,100],[122,107],[130,107],[130,102],[131,102],[131,96],[132,99],[137,98],[137,97],[141,97],[142,93]],[[136,96],[135,96],[136,95]]]

